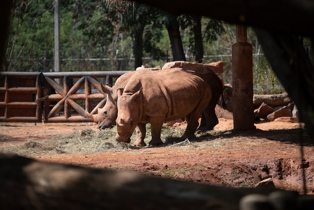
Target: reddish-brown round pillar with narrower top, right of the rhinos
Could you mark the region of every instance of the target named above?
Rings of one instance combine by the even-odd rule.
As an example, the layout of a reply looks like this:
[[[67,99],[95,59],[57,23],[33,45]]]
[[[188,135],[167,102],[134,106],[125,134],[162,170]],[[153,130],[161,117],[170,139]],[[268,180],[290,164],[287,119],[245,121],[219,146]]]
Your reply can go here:
[[[235,130],[253,129],[253,49],[247,43],[247,27],[237,25],[237,43],[232,45],[232,100]]]

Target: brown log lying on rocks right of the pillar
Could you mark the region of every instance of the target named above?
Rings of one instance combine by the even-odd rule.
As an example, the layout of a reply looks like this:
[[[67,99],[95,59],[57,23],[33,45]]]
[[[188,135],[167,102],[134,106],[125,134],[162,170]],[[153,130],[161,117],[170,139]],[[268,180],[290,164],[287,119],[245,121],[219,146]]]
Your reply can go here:
[[[291,98],[288,96],[288,93],[280,93],[280,94],[269,94],[269,95],[253,95],[253,105],[260,106],[262,102],[266,103],[270,107],[281,107],[287,106],[292,102]]]

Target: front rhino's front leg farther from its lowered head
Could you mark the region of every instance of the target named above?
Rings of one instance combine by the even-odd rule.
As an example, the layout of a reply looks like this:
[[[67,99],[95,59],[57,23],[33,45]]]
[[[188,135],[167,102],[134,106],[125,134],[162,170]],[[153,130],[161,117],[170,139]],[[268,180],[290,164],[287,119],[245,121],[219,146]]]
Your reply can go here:
[[[162,127],[165,122],[164,117],[150,117],[150,128],[151,128],[151,140],[148,143],[151,146],[161,145],[164,142],[161,140]]]

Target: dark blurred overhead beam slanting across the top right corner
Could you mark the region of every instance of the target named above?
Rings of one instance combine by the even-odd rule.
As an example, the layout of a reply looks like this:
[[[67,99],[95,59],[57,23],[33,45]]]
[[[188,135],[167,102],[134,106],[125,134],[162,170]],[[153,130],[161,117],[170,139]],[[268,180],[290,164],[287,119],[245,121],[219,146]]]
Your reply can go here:
[[[298,0],[188,0],[135,2],[159,7],[170,13],[195,14],[219,19],[232,24],[255,26],[264,30],[313,37],[314,3]]]

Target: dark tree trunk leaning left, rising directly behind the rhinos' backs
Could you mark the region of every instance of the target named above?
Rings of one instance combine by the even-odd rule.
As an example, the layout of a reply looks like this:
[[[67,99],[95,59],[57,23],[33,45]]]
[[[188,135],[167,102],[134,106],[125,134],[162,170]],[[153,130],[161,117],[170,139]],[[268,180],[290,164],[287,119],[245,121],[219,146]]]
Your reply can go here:
[[[174,15],[169,16],[169,20],[168,20],[168,23],[166,24],[166,28],[169,34],[174,61],[178,61],[178,60],[186,61],[185,53],[183,50],[181,34],[180,34],[180,26],[177,21],[177,16],[174,16]]]

